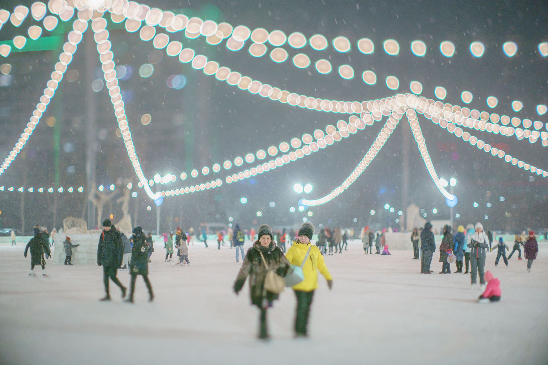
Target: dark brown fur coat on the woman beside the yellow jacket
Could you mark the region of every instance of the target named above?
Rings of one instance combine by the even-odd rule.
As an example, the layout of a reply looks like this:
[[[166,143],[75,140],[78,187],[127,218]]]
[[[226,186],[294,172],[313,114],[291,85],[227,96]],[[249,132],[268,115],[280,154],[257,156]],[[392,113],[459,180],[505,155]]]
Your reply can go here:
[[[274,241],[270,242],[269,247],[262,247],[259,241],[255,241],[253,247],[247,250],[246,257],[243,259],[242,267],[234,283],[234,290],[239,292],[249,276],[251,304],[262,308],[262,299],[275,300],[278,298],[278,294],[267,292],[263,288],[267,270],[262,262],[260,252],[262,252],[269,270],[275,270],[281,276],[287,274],[289,260],[283,255],[281,248],[276,246]]]

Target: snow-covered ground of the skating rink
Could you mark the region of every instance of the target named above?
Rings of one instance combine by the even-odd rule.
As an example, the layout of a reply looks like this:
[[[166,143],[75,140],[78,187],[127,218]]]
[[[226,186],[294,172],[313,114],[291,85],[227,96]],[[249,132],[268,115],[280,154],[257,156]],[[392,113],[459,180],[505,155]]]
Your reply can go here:
[[[212,242],[213,243],[213,242]],[[216,243],[216,242],[215,242]],[[248,245],[246,245],[247,250]],[[122,303],[111,283],[101,303],[98,266],[48,264],[49,277],[30,277],[24,245],[0,245],[0,363],[2,364],[546,364],[548,363],[548,245],[533,271],[526,260],[487,267],[501,280],[503,299],[476,304],[470,276],[419,274],[410,251],[363,254],[361,242],[326,256],[333,291],[321,279],[307,340],[294,340],[290,290],[269,312],[272,340],[255,339],[258,311],[231,287],[234,250],[197,242],[192,266],[164,263],[162,244],[150,265],[154,303],[142,280],[136,304]],[[452,265],[454,270],[454,264]],[[129,275],[118,271],[127,285]]]

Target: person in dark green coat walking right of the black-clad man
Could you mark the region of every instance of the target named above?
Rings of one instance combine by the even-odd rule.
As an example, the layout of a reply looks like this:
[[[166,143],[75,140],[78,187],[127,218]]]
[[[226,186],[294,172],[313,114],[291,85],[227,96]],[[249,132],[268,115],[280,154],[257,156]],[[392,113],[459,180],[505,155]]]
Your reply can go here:
[[[149,302],[154,300],[152,294],[152,284],[149,280],[149,257],[147,254],[148,245],[145,241],[145,234],[141,227],[135,227],[133,233],[133,249],[132,260],[129,264],[129,275],[132,276],[129,285],[129,297],[125,299],[127,303],[133,303],[133,294],[135,293],[135,280],[137,275],[142,275],[142,280],[145,281],[146,288],[149,289]]]

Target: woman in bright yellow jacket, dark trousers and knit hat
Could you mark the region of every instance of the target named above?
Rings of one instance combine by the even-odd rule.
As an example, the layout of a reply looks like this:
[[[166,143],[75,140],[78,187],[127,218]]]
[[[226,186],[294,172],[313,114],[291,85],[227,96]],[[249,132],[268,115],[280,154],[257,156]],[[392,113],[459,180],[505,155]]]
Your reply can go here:
[[[308,317],[310,305],[314,291],[318,288],[318,271],[327,280],[329,289],[333,287],[333,278],[327,270],[326,263],[323,260],[323,255],[319,248],[312,245],[310,240],[314,234],[314,227],[310,223],[303,223],[299,229],[299,239],[293,242],[293,245],[287,250],[286,258],[293,265],[302,266],[302,273],[305,279],[293,286],[295,296],[297,297],[297,309],[295,316],[295,337],[306,337],[306,327],[308,325]],[[309,257],[306,257],[306,252],[310,248]]]

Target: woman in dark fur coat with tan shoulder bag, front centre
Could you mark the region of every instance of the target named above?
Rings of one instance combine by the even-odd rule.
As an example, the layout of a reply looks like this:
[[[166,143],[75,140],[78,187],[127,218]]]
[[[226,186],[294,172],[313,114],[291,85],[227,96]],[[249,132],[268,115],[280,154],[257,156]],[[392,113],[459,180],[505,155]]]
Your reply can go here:
[[[277,275],[285,276],[289,269],[289,261],[274,243],[272,228],[269,225],[262,224],[258,234],[259,239],[253,242],[253,246],[247,251],[242,267],[238,271],[234,292],[237,295],[241,291],[249,276],[251,304],[256,305],[260,310],[259,338],[266,340],[269,338],[266,310],[272,306],[274,300],[278,299],[278,294],[264,289],[266,274],[272,270]]]

